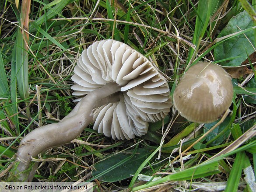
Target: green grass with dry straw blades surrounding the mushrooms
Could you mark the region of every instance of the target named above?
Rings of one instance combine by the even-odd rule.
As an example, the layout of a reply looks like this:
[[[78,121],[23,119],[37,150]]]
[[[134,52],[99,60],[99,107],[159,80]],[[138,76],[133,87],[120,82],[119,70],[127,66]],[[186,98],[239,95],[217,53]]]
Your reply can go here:
[[[21,1],[18,3],[18,9],[14,1],[5,0],[0,4],[1,180],[7,179],[8,168],[14,162],[23,136],[40,125],[58,122],[74,108],[70,77],[81,52],[92,42],[113,38],[140,51],[165,74],[171,95],[190,65],[198,61],[237,59],[239,56],[219,60],[214,56],[218,46],[232,38],[246,36],[254,50],[256,47],[254,27],[218,36],[231,18],[244,10],[255,19],[256,0],[250,1],[249,7],[246,0],[62,0],[61,3],[33,0],[31,5],[23,5],[27,9],[30,6],[28,39],[26,31],[21,30],[26,27],[22,21],[28,11],[21,11]],[[249,56],[252,52],[246,54]],[[98,179],[94,183],[95,191],[127,188],[154,191],[186,186],[192,190],[197,185],[203,191],[214,189],[217,182],[226,185],[228,192],[253,191],[245,182],[243,170],[250,165],[254,170],[256,166],[255,66],[255,55],[252,55],[247,67],[254,76],[242,74],[233,79],[231,113],[218,131],[207,133],[209,125],[179,122],[172,110],[163,130],[161,123],[160,126],[151,124],[148,135],[129,141],[112,140],[89,126],[78,140],[42,154],[43,159],[66,160],[44,162],[35,181],[84,178],[84,181],[95,182]],[[163,137],[162,132],[167,129],[170,131]],[[227,136],[223,138],[223,135]],[[181,139],[184,140],[179,149]],[[96,163],[108,164],[109,159],[122,156],[120,154],[124,155],[117,167],[122,169],[135,154],[139,157],[138,148],[151,150],[143,156],[144,161],[134,176],[119,181],[119,171],[112,165],[99,175],[91,175]],[[100,180],[105,174],[114,174],[113,181]],[[149,175],[150,179],[140,182],[140,174]]]

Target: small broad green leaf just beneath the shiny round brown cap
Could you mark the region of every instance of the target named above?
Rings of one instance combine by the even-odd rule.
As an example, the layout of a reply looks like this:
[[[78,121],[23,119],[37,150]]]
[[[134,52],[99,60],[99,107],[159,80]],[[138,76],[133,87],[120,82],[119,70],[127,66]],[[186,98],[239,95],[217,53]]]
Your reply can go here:
[[[224,122],[221,123],[221,125],[217,126],[211,133],[209,133],[206,136],[206,140],[210,141],[213,140],[214,137],[216,137],[218,134],[220,136],[214,140],[212,143],[210,143],[210,146],[217,146],[224,142],[226,138],[228,138],[228,135],[230,133],[230,130],[227,129],[227,126],[230,122],[231,117],[227,117]],[[219,121],[219,120],[218,120]],[[216,125],[216,122],[207,123],[204,125],[203,132],[206,133],[209,129],[211,129],[214,125]]]

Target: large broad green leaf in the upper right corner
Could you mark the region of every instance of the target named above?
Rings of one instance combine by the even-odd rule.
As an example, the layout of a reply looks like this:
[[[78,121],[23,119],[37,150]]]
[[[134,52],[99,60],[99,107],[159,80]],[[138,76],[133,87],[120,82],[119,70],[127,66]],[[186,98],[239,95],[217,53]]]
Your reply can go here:
[[[231,18],[226,27],[218,35],[218,38],[226,35],[254,27],[251,17],[247,12]],[[222,66],[240,66],[248,55],[254,52],[255,45],[254,30],[245,32],[242,35],[234,35],[234,37],[218,45],[214,50],[215,60],[224,60],[219,64]]]

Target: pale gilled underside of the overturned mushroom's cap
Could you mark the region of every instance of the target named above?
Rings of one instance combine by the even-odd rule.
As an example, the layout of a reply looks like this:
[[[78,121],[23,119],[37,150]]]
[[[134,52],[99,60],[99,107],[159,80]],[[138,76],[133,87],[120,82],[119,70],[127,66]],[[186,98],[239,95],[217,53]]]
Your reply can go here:
[[[105,84],[121,86],[120,101],[96,108],[94,129],[113,139],[147,133],[148,122],[159,121],[172,106],[165,78],[142,54],[115,40],[94,42],[85,49],[71,79],[73,95],[82,96]],[[81,100],[78,98],[76,101]]]

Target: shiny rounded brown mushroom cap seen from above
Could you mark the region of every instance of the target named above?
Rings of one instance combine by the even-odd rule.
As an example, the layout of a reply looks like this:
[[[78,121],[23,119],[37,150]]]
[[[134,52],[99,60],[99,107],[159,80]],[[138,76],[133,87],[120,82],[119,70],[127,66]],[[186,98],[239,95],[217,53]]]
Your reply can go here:
[[[229,74],[214,63],[197,63],[186,71],[173,94],[175,108],[191,122],[216,121],[231,105]]]

